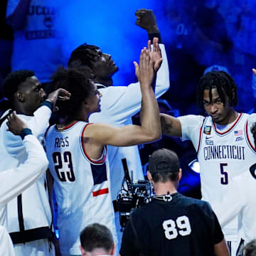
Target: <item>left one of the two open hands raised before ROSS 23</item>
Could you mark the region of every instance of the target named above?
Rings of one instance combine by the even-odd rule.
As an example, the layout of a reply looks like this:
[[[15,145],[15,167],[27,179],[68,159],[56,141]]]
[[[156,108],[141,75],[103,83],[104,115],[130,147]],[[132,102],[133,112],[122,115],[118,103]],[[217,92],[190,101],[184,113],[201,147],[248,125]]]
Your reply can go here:
[[[141,88],[150,87],[154,78],[153,62],[150,57],[149,50],[142,49],[139,57],[139,64],[134,61],[135,74],[139,80]]]

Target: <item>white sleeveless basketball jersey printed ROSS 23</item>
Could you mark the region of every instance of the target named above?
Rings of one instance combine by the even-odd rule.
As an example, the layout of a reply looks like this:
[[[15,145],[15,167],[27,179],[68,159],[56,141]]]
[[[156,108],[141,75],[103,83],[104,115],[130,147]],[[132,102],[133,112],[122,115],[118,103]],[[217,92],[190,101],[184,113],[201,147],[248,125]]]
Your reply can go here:
[[[101,159],[87,156],[82,143],[86,122],[46,134],[46,153],[58,203],[57,225],[63,254],[80,255],[80,231],[91,223],[107,225],[115,237],[107,150]]]

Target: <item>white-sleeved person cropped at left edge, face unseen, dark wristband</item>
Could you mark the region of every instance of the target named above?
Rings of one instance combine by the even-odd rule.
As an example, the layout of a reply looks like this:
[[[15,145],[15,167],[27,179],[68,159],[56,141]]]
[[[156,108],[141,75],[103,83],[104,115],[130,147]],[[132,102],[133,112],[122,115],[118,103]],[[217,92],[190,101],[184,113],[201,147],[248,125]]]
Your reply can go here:
[[[20,135],[28,154],[24,164],[0,172],[0,254],[14,256],[14,245],[7,233],[7,203],[31,186],[46,171],[48,160],[38,139],[31,135],[31,129],[16,115],[9,115],[8,128]]]

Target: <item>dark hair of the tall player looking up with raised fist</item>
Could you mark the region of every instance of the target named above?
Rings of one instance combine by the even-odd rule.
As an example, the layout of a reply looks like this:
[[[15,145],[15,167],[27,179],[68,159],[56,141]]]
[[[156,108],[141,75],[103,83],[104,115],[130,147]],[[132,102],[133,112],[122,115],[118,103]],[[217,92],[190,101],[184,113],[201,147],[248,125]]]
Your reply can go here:
[[[68,60],[68,68],[92,68],[93,63],[95,63],[95,58],[97,58],[97,51],[100,50],[97,46],[90,46],[86,43],[82,44],[70,55]]]

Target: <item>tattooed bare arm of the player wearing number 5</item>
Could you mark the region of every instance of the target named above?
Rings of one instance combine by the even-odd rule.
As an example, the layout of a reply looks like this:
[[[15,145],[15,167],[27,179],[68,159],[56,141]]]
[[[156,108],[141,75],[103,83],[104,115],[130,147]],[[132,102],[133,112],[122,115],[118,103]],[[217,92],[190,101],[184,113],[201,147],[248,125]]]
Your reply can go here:
[[[164,135],[181,137],[181,122],[169,114],[160,114],[161,132]]]

